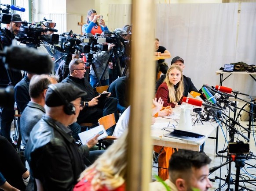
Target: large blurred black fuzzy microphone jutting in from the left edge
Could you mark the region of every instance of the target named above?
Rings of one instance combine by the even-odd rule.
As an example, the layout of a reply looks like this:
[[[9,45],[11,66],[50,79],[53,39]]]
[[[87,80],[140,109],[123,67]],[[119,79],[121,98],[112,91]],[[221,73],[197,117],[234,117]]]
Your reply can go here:
[[[47,53],[26,46],[7,46],[0,53],[7,67],[34,74],[51,74],[53,61]]]

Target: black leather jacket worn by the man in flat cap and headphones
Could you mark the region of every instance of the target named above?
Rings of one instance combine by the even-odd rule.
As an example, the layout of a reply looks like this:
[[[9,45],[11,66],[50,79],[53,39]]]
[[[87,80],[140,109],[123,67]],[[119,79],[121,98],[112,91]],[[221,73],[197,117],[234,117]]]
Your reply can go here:
[[[33,127],[25,155],[33,177],[39,179],[44,190],[73,190],[80,173],[85,169],[83,157],[89,149],[78,149],[71,130],[44,115]]]

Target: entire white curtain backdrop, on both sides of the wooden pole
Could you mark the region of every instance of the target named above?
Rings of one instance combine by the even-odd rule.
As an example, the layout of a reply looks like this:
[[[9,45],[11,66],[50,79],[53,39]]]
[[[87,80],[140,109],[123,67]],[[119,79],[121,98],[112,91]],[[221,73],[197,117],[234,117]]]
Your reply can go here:
[[[130,24],[128,7],[110,5],[108,26],[120,28]],[[182,57],[183,73],[197,89],[205,83],[219,85],[215,71],[224,64],[256,64],[256,3],[241,4],[239,28],[238,3],[156,4],[153,30],[160,45],[172,54],[165,61],[170,64],[173,57]],[[256,82],[249,75],[231,75],[223,86],[256,96]]]

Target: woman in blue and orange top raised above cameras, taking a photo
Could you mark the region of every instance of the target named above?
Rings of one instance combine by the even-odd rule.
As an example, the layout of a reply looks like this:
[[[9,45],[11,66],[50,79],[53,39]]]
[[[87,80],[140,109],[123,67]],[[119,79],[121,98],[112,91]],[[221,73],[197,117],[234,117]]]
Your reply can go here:
[[[104,31],[108,31],[109,29],[101,16],[95,10],[89,10],[87,12],[87,24],[84,24],[82,27],[83,32],[95,35],[96,33],[101,34]],[[99,23],[97,19],[99,19]]]

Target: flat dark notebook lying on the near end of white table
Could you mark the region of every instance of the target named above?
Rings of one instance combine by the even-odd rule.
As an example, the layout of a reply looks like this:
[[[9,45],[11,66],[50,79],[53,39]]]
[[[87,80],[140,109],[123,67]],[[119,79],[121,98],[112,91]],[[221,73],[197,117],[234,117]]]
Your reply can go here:
[[[202,135],[202,134],[192,133],[189,131],[182,131],[178,129],[174,129],[174,131],[164,134],[164,136],[186,140],[186,141],[199,141],[201,138],[205,137],[205,135]]]

